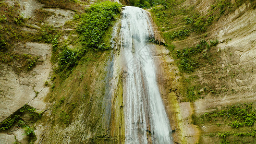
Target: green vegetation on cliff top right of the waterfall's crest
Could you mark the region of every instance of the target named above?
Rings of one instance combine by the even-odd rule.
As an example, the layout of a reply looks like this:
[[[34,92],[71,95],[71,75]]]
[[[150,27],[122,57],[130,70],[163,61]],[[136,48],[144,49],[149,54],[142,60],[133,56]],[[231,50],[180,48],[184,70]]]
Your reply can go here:
[[[158,4],[161,6],[150,10],[154,22],[163,32],[163,37],[168,44],[175,38],[184,39],[193,32],[196,35],[205,33],[208,27],[217,22],[222,15],[234,11],[246,0],[236,0],[234,4],[230,0],[216,0],[207,14],[197,12],[195,6],[180,5],[183,2],[184,0],[159,0]],[[255,0],[250,2],[255,8]]]

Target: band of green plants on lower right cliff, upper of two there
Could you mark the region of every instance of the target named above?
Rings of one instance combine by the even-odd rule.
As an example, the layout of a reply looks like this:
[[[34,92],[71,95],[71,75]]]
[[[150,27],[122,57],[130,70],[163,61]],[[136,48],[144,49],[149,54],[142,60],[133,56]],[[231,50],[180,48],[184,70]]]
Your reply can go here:
[[[193,119],[194,124],[222,121],[232,128],[252,126],[256,121],[256,109],[253,108],[252,104],[244,103],[241,106],[227,106],[224,110],[215,110],[199,117],[194,116]]]

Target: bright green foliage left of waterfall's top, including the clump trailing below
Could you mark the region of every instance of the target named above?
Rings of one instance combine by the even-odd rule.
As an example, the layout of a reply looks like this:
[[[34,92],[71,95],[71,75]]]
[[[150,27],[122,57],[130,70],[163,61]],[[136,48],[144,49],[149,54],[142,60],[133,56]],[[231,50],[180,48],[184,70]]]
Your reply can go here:
[[[115,20],[115,15],[120,14],[121,7],[122,5],[117,2],[104,1],[91,5],[77,18],[81,24],[76,28],[76,32],[83,47],[71,50],[64,46],[60,54],[59,71],[65,69],[70,71],[70,68],[73,68],[88,50],[98,51],[110,48],[104,43],[103,38],[111,22]]]

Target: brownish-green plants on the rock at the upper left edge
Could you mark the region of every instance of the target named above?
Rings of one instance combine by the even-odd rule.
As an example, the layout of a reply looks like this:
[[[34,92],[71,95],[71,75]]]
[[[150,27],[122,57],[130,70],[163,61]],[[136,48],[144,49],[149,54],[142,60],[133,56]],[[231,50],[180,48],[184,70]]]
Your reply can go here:
[[[20,27],[26,23],[26,19],[18,12],[19,5],[14,3],[9,6],[0,2],[0,62],[8,63],[15,68],[15,72],[24,72],[32,70],[38,61],[38,57],[30,55],[20,55],[12,53],[14,44],[19,41],[35,41],[36,37],[28,32],[20,30]]]

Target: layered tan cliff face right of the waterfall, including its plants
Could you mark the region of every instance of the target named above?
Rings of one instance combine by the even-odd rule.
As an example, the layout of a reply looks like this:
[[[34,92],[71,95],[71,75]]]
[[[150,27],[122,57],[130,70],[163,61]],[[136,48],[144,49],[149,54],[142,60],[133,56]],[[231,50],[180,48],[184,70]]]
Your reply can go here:
[[[187,139],[191,144],[197,140],[200,144],[255,143],[253,138],[255,117],[251,116],[255,115],[256,108],[254,91],[256,19],[253,16],[256,14],[255,2],[249,0],[231,0],[230,2],[185,0],[177,7],[173,7],[174,10],[178,9],[176,10],[178,12],[183,10],[177,15],[168,8],[155,8],[161,9],[162,12],[154,8],[150,10],[165,41],[175,46],[171,55],[176,59],[173,61],[176,61],[180,72],[175,76],[178,79],[177,85],[170,90],[178,99],[178,109],[182,116],[180,120],[187,120],[189,125],[197,127],[197,130],[193,130],[189,129],[189,125],[183,125],[186,130],[181,129],[181,133],[186,135],[186,138],[191,138]],[[218,19],[214,19],[218,16],[218,5],[224,4],[229,5],[228,9],[224,6],[223,13]],[[193,9],[190,9],[191,7]],[[200,17],[193,21],[190,19],[191,13],[188,10],[196,10]],[[208,18],[212,16],[211,12],[215,14],[212,17],[213,22]],[[208,18],[208,21],[204,22],[205,18]],[[168,24],[165,25],[165,22]],[[207,29],[202,29],[207,24]],[[200,27],[196,27],[197,25]],[[189,34],[184,36],[182,32]],[[219,44],[212,47],[210,41],[213,42],[215,39]],[[195,48],[200,48],[198,44],[202,45],[200,42],[202,40],[206,40],[210,48],[198,54]],[[195,50],[195,53],[190,54],[189,50]],[[177,57],[179,52],[183,56]],[[204,54],[200,55],[200,53]],[[179,60],[191,60],[193,63],[182,61],[181,64]],[[205,62],[205,60],[208,61]],[[168,61],[165,63],[170,67],[172,64],[168,64]],[[195,69],[185,67],[188,64],[191,64],[190,68],[195,67]],[[172,84],[175,85],[175,83]],[[168,104],[166,106],[168,107]],[[243,110],[246,110],[246,115],[238,115]],[[252,120],[252,123],[246,124],[245,119]],[[179,120],[178,116],[176,120]],[[179,133],[179,131],[176,132]],[[244,135],[238,136],[241,134]],[[196,140],[197,137],[199,139]]]

